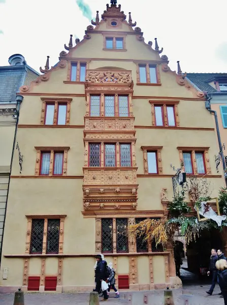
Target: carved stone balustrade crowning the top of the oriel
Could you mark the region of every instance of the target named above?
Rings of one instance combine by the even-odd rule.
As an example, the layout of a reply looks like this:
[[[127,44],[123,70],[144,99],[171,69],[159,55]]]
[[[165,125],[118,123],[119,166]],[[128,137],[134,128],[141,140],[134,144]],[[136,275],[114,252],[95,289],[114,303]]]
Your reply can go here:
[[[131,71],[87,70],[85,80],[88,83],[129,84],[132,74]]]

